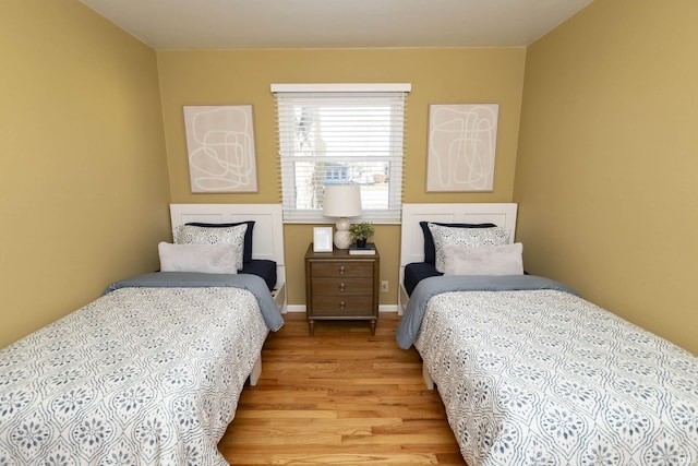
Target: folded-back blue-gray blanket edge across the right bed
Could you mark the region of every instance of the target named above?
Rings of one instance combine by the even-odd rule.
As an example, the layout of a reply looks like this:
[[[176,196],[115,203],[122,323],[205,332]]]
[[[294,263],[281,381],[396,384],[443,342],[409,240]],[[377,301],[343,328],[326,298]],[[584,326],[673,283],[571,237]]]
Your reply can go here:
[[[421,280],[405,309],[395,332],[395,339],[402,349],[408,349],[414,343],[422,325],[422,318],[426,311],[429,300],[441,292],[448,291],[504,291],[518,289],[557,289],[577,295],[567,286],[535,275],[503,275],[503,276],[464,276],[449,275],[429,277]]]

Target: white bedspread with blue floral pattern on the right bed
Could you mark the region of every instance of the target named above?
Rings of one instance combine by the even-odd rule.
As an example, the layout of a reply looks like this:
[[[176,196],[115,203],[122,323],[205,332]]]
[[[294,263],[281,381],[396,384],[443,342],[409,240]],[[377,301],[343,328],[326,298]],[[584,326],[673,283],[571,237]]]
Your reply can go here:
[[[698,358],[576,296],[441,294],[414,346],[470,466],[698,465]]]

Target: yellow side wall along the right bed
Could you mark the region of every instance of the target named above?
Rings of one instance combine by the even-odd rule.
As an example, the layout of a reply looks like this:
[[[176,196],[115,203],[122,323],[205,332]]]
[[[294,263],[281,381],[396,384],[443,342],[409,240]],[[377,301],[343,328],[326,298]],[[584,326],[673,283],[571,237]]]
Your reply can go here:
[[[698,353],[698,2],[595,0],[529,47],[531,272]]]

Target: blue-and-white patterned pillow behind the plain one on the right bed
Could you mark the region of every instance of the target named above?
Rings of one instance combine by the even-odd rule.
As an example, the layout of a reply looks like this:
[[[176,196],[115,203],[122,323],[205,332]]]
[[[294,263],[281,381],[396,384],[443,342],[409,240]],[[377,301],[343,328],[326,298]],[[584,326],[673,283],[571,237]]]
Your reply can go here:
[[[460,248],[483,248],[509,243],[509,230],[503,227],[454,228],[430,223],[429,229],[434,238],[434,265],[441,273],[444,273],[445,271],[446,254],[444,253],[444,248],[448,246],[458,246]]]

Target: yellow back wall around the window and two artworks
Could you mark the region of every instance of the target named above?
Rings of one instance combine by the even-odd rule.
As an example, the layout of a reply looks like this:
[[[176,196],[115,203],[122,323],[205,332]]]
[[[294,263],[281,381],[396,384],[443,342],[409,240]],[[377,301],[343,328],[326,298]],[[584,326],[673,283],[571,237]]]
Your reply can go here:
[[[280,202],[272,83],[407,82],[405,202],[510,202],[524,83],[524,48],[158,51],[165,136],[174,203]],[[429,104],[500,103],[493,193],[425,194]],[[186,164],[183,105],[252,104],[257,155],[257,194],[192,194]],[[303,255],[313,225],[285,227],[290,304],[303,304]],[[400,234],[378,225],[381,279],[397,303]]]

